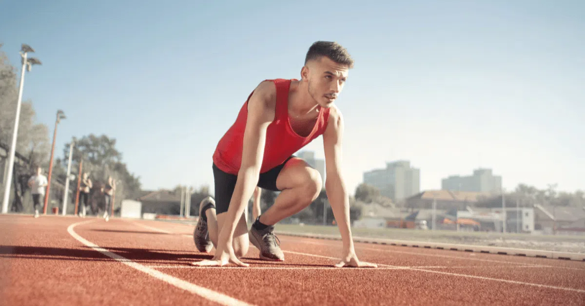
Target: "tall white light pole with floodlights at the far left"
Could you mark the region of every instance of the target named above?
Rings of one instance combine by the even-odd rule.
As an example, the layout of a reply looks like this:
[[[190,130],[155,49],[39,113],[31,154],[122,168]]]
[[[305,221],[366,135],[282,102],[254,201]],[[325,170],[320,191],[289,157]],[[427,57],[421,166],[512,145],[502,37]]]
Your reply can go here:
[[[33,65],[40,65],[41,62],[35,57],[27,58],[28,53],[34,53],[27,44],[20,45],[20,57],[22,58],[22,71],[20,71],[20,87],[18,89],[18,99],[16,100],[16,117],[14,119],[14,130],[12,132],[12,144],[8,154],[8,172],[6,173],[6,184],[4,186],[4,199],[2,200],[2,214],[8,212],[8,199],[10,198],[10,187],[12,181],[12,169],[14,167],[14,155],[16,152],[16,136],[18,136],[18,122],[20,119],[20,104],[22,102],[22,88],[25,84],[25,70],[30,71]]]

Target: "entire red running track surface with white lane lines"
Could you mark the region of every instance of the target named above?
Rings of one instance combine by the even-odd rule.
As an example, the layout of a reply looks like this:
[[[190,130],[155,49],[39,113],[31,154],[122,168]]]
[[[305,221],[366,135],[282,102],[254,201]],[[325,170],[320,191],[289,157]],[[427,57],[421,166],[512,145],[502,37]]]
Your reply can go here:
[[[190,265],[212,257],[195,250],[193,226],[22,215],[0,224],[6,305],[585,305],[585,262],[358,243],[378,269],[337,269],[340,242],[280,236],[285,262],[257,260],[250,247],[249,268],[204,268]]]

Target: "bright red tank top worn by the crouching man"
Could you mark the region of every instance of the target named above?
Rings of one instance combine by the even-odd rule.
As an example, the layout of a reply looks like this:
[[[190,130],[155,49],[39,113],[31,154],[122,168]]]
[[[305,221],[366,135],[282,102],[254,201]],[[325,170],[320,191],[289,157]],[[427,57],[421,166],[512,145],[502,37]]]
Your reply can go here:
[[[292,79],[295,80],[295,79]],[[313,139],[322,135],[327,128],[329,109],[319,109],[319,116],[312,132],[301,137],[292,130],[288,121],[288,90],[292,80],[276,79],[276,112],[274,121],[266,131],[266,145],[260,173],[264,173],[280,164],[288,157],[306,146]],[[295,80],[296,81],[296,80]],[[247,104],[253,92],[240,108],[236,122],[223,135],[215,149],[213,160],[215,166],[229,174],[238,174],[242,164],[242,145],[246,128]]]

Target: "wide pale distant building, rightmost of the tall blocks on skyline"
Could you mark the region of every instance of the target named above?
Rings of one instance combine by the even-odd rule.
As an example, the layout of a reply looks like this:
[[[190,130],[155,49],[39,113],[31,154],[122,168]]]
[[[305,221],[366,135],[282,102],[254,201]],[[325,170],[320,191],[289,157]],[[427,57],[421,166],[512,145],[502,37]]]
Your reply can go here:
[[[491,169],[473,170],[472,176],[449,176],[441,181],[441,188],[450,191],[500,193],[502,177],[494,176]]]

